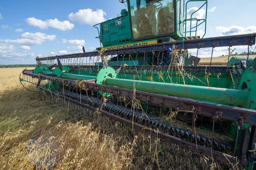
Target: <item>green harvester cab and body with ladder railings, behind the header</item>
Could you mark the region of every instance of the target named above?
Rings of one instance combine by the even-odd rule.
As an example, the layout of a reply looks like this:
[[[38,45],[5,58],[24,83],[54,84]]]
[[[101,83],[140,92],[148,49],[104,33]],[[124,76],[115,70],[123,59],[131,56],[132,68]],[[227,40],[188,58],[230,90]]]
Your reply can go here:
[[[186,9],[189,2],[198,0],[189,0],[186,3]],[[202,0],[200,0],[202,1]],[[207,0],[203,0],[203,7],[207,10]],[[120,1],[124,3],[123,1]],[[198,39],[198,26],[204,25],[206,29],[206,17],[195,18],[194,13],[190,18],[184,18],[184,0],[127,0],[128,9],[122,9],[121,14],[116,18],[106,20],[99,25],[99,38],[103,49],[120,49],[131,46],[141,46],[149,44],[157,44],[164,42],[173,42],[175,48],[176,40]],[[190,21],[190,23],[189,23]],[[191,26],[196,23],[195,26]],[[189,31],[185,27],[189,27]],[[96,27],[97,28],[97,27]],[[98,28],[97,28],[98,29]],[[99,30],[98,29],[98,30]],[[185,36],[183,32],[185,30]],[[192,36],[194,35],[194,36]],[[172,51],[169,49],[169,52]],[[100,49],[100,48],[99,48]],[[169,52],[158,53],[149,58],[144,59],[144,55],[137,56],[135,61],[128,61],[123,55],[111,58],[108,65],[128,64],[128,65],[161,65],[169,66],[172,64],[181,65],[197,65],[200,58],[189,56],[188,52],[180,51],[173,58]],[[101,64],[101,63],[100,63]]]

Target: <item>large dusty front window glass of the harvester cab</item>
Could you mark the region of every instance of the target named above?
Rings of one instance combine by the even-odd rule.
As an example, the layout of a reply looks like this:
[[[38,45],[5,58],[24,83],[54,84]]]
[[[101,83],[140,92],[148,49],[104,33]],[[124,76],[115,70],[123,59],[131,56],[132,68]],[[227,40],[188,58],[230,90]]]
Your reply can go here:
[[[130,0],[130,9],[134,39],[175,31],[172,0]]]

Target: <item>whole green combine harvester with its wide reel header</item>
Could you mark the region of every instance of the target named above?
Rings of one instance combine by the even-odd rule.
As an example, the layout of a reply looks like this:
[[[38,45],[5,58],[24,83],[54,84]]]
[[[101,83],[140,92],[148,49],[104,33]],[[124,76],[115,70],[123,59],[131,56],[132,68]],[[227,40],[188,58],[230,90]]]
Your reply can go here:
[[[252,169],[256,61],[249,47],[256,34],[198,37],[207,14],[186,17],[188,5],[198,1],[198,10],[207,9],[207,0],[127,0],[128,10],[94,26],[102,47],[36,58],[38,66],[24,70],[20,82],[215,162]],[[231,58],[241,45],[248,46],[247,56]],[[228,49],[227,66],[198,66],[200,49],[212,48],[212,56],[217,47]]]

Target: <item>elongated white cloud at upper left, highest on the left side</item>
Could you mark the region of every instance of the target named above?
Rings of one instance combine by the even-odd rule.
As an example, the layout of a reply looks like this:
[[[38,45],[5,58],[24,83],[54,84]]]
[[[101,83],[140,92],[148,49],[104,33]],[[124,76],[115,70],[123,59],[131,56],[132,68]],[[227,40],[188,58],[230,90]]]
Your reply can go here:
[[[36,26],[40,29],[48,29],[48,27],[52,27],[61,31],[67,31],[74,28],[74,24],[70,23],[67,20],[59,21],[57,18],[50,19],[50,20],[38,20],[34,17],[27,18],[26,23],[28,23],[31,26]]]

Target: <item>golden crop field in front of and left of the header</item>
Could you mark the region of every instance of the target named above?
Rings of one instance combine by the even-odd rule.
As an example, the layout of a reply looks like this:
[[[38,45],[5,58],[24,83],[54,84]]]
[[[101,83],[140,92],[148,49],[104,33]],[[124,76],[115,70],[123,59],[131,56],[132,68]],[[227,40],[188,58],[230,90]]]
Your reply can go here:
[[[0,69],[1,170],[230,168],[96,112],[73,105],[67,108],[61,100],[30,92],[19,83],[23,69]]]

